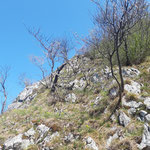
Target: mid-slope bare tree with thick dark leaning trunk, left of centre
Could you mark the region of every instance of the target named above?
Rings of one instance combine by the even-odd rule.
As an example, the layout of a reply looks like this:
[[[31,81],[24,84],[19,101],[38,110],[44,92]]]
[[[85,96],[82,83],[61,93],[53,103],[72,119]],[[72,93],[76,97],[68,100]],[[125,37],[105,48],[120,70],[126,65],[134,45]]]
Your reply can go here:
[[[40,70],[42,71],[43,78],[48,82],[48,88],[51,89],[51,92],[55,92],[59,74],[64,66],[69,63],[68,53],[71,50],[69,45],[69,40],[67,38],[58,38],[58,39],[50,39],[41,34],[39,30],[30,30],[27,29],[28,32],[35,37],[35,39],[40,43],[43,48],[43,53],[46,58],[46,62],[49,66],[47,69],[50,74],[46,77],[45,70],[43,69],[43,64],[39,61],[39,58],[33,59],[34,64],[36,64]],[[58,64],[63,63],[60,67],[57,67]],[[56,71],[55,71],[56,69]]]

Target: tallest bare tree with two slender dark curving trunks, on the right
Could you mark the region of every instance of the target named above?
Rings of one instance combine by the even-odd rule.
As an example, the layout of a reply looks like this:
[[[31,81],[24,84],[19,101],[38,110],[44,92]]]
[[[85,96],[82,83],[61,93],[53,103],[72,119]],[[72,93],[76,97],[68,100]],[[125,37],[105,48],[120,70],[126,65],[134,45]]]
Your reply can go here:
[[[111,73],[119,86],[119,100],[116,108],[119,106],[122,93],[124,91],[124,80],[122,76],[122,66],[119,50],[125,37],[131,34],[131,29],[145,17],[147,4],[145,0],[105,0],[101,3],[99,0],[92,0],[97,6],[97,13],[94,16],[94,23],[101,31],[103,47],[96,42],[96,48],[109,60]],[[112,59],[116,55],[119,79],[114,74]],[[114,111],[116,110],[114,109]]]

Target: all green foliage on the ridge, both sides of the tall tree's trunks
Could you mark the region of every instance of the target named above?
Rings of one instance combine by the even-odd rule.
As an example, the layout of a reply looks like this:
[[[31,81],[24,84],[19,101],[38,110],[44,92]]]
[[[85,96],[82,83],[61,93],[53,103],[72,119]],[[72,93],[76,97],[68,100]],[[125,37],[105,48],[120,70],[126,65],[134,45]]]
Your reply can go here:
[[[131,31],[131,34],[128,35],[127,38],[127,50],[128,50],[128,58],[130,61],[130,65],[140,64],[142,63],[146,56],[150,56],[150,19],[146,18],[138,23]],[[94,41],[93,41],[94,43]],[[86,52],[85,55],[88,55],[95,59],[96,57],[103,58],[103,55],[108,57],[107,52],[112,53],[114,49],[114,44],[107,39],[103,39],[100,41],[99,50],[89,48],[89,51]],[[99,52],[100,51],[100,52]],[[123,42],[119,48],[119,55],[122,65],[127,65],[127,55],[125,51],[125,43]],[[104,63],[106,65],[109,64],[109,61],[105,59]],[[116,54],[113,56],[113,64],[117,64]]]

